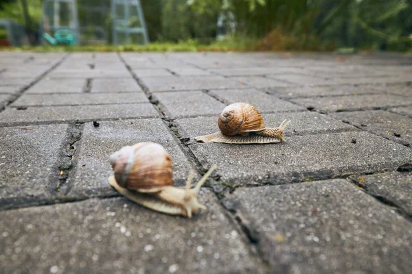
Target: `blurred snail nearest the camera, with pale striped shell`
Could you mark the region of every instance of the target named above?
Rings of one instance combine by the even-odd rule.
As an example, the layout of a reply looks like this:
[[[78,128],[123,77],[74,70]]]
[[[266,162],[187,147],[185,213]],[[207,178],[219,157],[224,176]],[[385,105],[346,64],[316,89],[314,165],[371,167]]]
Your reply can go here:
[[[207,209],[197,201],[196,195],[216,165],[211,166],[194,188],[190,188],[194,171],[190,171],[185,188],[176,188],[170,155],[155,142],[123,147],[110,156],[110,163],[114,175],[108,177],[108,184],[141,206],[188,218],[199,209]]]

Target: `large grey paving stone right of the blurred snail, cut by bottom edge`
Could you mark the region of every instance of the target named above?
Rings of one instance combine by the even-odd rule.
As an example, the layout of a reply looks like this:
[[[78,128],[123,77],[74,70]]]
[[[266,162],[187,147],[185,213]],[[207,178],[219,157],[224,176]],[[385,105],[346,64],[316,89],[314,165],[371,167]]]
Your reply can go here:
[[[271,273],[407,273],[411,223],[343,179],[240,188],[226,201]]]

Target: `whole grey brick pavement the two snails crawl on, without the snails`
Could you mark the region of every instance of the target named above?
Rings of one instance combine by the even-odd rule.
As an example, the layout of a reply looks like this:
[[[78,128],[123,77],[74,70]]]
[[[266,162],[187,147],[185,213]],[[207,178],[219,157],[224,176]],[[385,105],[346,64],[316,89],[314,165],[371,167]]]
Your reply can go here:
[[[0,67],[1,273],[412,267],[410,55],[1,52]],[[194,140],[236,101],[290,119],[286,141]],[[107,184],[108,156],[143,141],[176,186],[218,164],[207,211],[153,212]]]

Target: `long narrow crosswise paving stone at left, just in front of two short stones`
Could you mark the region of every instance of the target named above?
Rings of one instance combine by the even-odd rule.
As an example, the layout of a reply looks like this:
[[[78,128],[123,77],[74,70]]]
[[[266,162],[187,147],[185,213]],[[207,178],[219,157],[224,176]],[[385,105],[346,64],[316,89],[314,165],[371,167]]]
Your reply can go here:
[[[143,92],[136,93],[80,93],[52,95],[23,95],[13,107],[34,105],[104,105],[113,103],[148,103]]]

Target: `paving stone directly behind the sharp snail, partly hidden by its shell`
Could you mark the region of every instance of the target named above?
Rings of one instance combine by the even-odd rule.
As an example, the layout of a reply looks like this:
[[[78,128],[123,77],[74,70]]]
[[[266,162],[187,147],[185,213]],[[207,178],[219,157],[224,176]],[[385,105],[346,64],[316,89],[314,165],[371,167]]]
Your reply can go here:
[[[210,90],[209,94],[218,97],[220,100],[227,102],[227,104],[236,102],[250,103],[260,112],[305,110],[305,108],[299,105],[284,101],[273,95],[267,95],[255,89]]]

